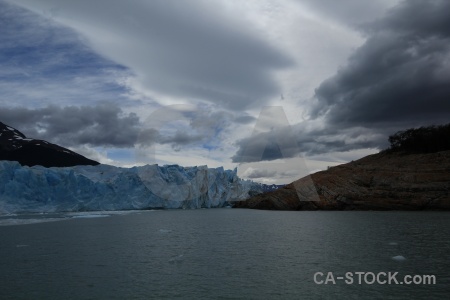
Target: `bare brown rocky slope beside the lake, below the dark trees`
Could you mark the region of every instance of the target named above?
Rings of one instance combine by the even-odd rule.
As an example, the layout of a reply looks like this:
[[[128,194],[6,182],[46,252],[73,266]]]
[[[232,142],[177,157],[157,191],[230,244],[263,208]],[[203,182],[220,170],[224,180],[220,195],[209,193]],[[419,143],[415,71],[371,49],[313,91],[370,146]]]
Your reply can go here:
[[[383,151],[234,207],[272,210],[450,210],[450,151]]]

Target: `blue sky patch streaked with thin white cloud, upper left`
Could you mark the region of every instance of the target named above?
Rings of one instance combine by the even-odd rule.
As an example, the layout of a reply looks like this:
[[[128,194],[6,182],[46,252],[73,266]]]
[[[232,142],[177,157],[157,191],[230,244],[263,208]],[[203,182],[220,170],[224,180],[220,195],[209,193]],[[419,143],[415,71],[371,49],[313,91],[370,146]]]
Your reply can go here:
[[[43,106],[115,99],[128,76],[74,30],[0,1],[0,104]]]

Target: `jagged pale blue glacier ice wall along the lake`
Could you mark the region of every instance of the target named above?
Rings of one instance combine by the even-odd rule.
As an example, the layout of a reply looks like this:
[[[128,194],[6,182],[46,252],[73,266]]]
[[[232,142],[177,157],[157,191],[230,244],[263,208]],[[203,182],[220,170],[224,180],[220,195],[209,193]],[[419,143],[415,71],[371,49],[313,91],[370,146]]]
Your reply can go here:
[[[224,207],[262,186],[223,167],[45,168],[0,161],[0,213]]]

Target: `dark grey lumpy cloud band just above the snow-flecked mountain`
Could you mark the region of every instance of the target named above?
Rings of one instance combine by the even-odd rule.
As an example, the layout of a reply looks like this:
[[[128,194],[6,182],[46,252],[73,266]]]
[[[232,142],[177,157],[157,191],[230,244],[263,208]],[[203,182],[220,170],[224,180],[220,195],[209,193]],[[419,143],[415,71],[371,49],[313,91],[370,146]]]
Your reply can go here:
[[[139,134],[139,118],[113,104],[0,108],[0,120],[27,137],[63,146],[130,147]]]

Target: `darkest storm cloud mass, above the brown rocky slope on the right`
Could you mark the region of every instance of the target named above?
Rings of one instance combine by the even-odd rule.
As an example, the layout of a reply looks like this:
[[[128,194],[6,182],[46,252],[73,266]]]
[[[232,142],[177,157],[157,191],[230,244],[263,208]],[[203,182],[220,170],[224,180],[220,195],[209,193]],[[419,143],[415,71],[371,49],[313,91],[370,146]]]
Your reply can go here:
[[[364,18],[347,18],[344,10],[334,10],[340,5],[334,2],[305,3],[335,19],[349,19],[351,26],[359,24],[358,30],[367,39],[347,64],[315,91],[309,122],[317,119],[320,123],[319,117],[323,117],[324,128],[307,130],[300,123],[293,126],[293,133],[280,129],[242,139],[236,143],[234,162],[384,149],[388,136],[398,130],[448,122],[450,2],[401,2],[384,17],[365,24]],[[283,145],[283,140],[289,139],[296,145]],[[283,148],[284,152],[280,151]]]

